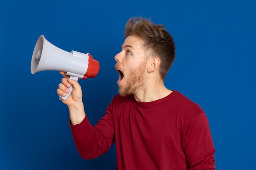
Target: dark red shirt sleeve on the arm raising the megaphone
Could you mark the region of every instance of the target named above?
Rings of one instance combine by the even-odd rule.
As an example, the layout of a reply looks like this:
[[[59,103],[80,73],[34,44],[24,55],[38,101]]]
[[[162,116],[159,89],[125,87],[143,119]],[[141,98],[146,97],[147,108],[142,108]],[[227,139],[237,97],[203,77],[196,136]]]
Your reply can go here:
[[[106,153],[115,141],[114,118],[110,106],[97,125],[92,126],[87,116],[80,124],[71,125],[76,148],[83,159],[94,159]]]

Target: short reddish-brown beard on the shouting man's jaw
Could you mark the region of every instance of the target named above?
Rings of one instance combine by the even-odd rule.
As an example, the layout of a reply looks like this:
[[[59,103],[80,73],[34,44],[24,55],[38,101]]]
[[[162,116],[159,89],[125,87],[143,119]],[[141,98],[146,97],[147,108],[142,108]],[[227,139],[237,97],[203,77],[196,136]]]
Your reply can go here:
[[[143,88],[146,80],[145,68],[146,62],[142,62],[130,73],[127,78],[127,83],[124,86],[118,86],[118,92],[121,96],[124,97],[129,94],[135,94]]]

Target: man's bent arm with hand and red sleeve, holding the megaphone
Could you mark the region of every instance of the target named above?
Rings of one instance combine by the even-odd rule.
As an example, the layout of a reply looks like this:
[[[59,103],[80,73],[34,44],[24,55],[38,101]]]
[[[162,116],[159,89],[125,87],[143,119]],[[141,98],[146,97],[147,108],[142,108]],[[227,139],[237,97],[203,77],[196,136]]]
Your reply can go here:
[[[58,95],[65,96],[69,91],[68,88],[73,86],[70,97],[62,102],[67,104],[70,110],[70,128],[76,148],[82,158],[96,158],[107,152],[114,143],[114,119],[110,106],[108,106],[105,116],[96,126],[92,127],[85,116],[81,86],[75,80],[69,79],[65,72],[60,73],[64,78],[59,84]]]

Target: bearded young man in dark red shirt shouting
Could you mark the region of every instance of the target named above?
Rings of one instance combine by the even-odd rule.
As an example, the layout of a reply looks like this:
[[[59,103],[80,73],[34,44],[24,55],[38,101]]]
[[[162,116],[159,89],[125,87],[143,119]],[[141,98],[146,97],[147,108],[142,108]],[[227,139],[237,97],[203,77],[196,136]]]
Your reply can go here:
[[[65,77],[58,95],[70,110],[70,127],[84,159],[93,159],[116,143],[117,170],[215,170],[214,146],[204,111],[181,93],[164,86],[175,58],[175,43],[163,25],[131,18],[122,50],[115,56],[119,95],[104,117],[91,126],[81,86]]]

